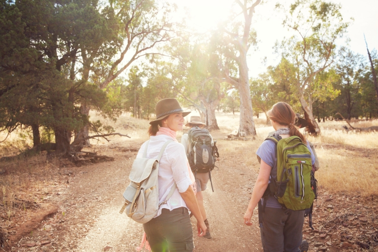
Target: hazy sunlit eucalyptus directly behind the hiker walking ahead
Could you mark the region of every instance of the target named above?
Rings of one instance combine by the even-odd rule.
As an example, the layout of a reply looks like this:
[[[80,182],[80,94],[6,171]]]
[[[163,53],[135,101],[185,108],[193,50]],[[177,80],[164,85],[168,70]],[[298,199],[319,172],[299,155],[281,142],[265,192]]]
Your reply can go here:
[[[218,130],[215,110],[233,88],[222,78],[220,51],[208,37],[196,41],[177,38],[172,45],[171,55],[176,59],[171,71],[175,90],[189,106],[199,110],[208,130]]]

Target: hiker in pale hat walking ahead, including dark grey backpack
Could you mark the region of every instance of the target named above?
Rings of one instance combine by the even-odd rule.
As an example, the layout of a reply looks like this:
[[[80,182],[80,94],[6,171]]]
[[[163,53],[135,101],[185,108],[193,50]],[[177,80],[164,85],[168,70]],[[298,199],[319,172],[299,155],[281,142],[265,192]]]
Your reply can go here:
[[[197,199],[198,207],[199,210],[201,211],[201,215],[204,219],[205,225],[206,225],[206,234],[204,235],[205,238],[210,239],[211,234],[210,234],[210,227],[209,227],[209,221],[206,216],[206,210],[205,206],[203,204],[203,194],[202,191],[206,190],[207,183],[210,180],[210,172],[212,169],[214,169],[214,162],[215,162],[215,157],[213,158],[214,153],[216,152],[218,154],[218,151],[214,151],[216,149],[214,141],[212,136],[210,135],[209,131],[204,130],[206,127],[206,124],[201,122],[201,117],[199,116],[191,116],[190,120],[185,126],[189,127],[189,133],[183,134],[181,138],[181,144],[184,145],[185,152],[187,153],[187,157],[189,160],[190,167],[192,168],[192,172],[195,177],[195,183],[196,183],[196,188],[197,188],[197,193],[195,195],[195,198]],[[195,151],[193,148],[195,146],[198,146],[195,142],[191,140],[193,134],[196,134],[196,136],[201,136],[203,139],[200,141],[200,145],[204,146],[201,151]],[[205,144],[202,144],[205,143]],[[206,144],[208,146],[206,146]],[[205,151],[207,153],[207,160],[206,158],[203,158],[201,154]],[[210,152],[210,153],[209,153]],[[204,167],[205,170],[198,171],[198,166],[194,164],[195,157],[193,157],[193,153],[196,153],[196,160],[201,160],[202,162],[205,160],[205,163],[209,164],[209,167],[211,170],[208,170],[209,167]],[[195,154],[194,154],[195,155]],[[219,156],[219,154],[218,154]],[[207,169],[206,169],[207,168]]]

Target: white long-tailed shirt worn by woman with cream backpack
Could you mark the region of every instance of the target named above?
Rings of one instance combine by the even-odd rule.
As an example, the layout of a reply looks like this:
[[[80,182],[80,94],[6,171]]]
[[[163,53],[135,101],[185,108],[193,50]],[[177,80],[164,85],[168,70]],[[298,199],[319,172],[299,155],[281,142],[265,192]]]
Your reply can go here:
[[[147,148],[147,158],[158,158],[161,147],[169,140],[173,139],[166,135],[151,136]],[[142,144],[137,157],[143,157],[145,146],[146,143]],[[189,177],[187,160],[183,144],[173,142],[166,146],[159,161],[159,204],[165,200],[174,182],[176,182],[177,188],[167,203],[159,207],[158,215],[155,217],[161,215],[163,208],[169,209],[169,211],[180,207],[188,208],[179,193],[188,190],[189,186],[192,184]]]

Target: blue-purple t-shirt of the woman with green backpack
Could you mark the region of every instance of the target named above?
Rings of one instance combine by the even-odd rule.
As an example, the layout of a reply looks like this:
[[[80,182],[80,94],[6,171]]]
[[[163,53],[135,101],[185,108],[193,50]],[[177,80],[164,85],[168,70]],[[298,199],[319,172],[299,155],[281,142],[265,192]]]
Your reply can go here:
[[[307,141],[307,147],[309,148],[311,152],[311,161],[312,164],[315,164],[315,155],[310,147],[309,142]],[[273,168],[273,166],[276,164],[277,158],[275,157],[275,148],[276,144],[273,143],[273,141],[264,141],[260,147],[258,147],[256,154],[259,156],[262,160],[264,160],[265,163],[267,163],[270,167]],[[272,178],[269,176],[269,183],[272,182]],[[262,200],[263,202],[263,200]],[[273,197],[269,196],[268,200],[266,201],[266,207],[268,208],[282,208],[282,205],[278,202],[278,200]]]

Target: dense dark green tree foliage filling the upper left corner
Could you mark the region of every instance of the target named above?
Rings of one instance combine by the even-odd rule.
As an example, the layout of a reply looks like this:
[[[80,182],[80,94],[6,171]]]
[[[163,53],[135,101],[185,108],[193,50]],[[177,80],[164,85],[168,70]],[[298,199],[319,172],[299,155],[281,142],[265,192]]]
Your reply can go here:
[[[114,37],[113,21],[86,0],[1,1],[0,11],[0,42],[6,45],[0,49],[0,130],[36,125],[65,132],[69,141],[70,132],[88,123],[80,104],[106,104],[106,94],[77,75],[86,68],[78,57],[95,54]]]

